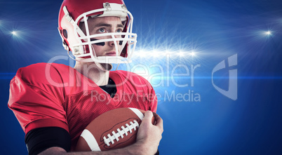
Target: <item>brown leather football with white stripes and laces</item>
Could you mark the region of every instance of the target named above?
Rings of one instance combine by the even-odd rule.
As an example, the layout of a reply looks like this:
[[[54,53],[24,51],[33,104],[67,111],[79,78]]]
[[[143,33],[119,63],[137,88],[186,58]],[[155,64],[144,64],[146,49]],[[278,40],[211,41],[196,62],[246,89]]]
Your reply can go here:
[[[142,109],[124,107],[101,114],[83,130],[75,150],[107,151],[135,143],[144,113]]]

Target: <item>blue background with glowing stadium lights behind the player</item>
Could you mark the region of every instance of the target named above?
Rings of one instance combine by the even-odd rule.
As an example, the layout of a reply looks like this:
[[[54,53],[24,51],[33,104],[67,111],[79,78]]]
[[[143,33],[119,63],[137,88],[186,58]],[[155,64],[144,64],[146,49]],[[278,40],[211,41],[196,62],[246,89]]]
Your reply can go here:
[[[159,95],[157,113],[164,121],[161,154],[282,154],[281,1],[125,2],[138,34],[130,66],[143,64],[154,74],[161,70],[152,65],[159,64],[169,75],[150,81]],[[67,55],[57,30],[60,4],[55,0],[0,1],[0,154],[27,154],[25,134],[7,107],[9,82],[17,69]],[[170,52],[169,62],[162,55],[165,51]],[[189,55],[192,51],[196,55]],[[238,69],[235,101],[215,90],[211,81],[215,65],[234,54],[238,55],[233,68]],[[195,69],[194,86],[191,74],[170,77],[177,65],[187,66],[190,72],[190,65],[201,65]],[[178,67],[174,72],[186,70]],[[215,76],[215,84],[227,90],[228,69]],[[157,86],[160,81],[163,86]],[[189,90],[198,93],[201,101],[166,97],[166,93],[184,95]]]

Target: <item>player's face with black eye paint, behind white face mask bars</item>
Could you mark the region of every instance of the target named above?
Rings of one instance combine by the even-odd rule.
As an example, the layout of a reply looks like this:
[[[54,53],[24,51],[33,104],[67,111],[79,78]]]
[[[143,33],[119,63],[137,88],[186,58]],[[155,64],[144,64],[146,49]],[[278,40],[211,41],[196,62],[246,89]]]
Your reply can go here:
[[[102,17],[102,18],[89,18],[88,27],[90,35],[93,34],[104,34],[112,32],[122,32],[124,25],[121,22],[121,19],[118,17]],[[121,38],[121,35],[116,35],[116,38]],[[100,36],[93,38],[96,39],[112,39],[112,36]],[[118,46],[119,55],[121,54],[121,45],[119,41],[116,41]],[[92,44],[96,56],[116,56],[116,48],[114,46],[114,41],[106,41],[104,43],[95,43]]]

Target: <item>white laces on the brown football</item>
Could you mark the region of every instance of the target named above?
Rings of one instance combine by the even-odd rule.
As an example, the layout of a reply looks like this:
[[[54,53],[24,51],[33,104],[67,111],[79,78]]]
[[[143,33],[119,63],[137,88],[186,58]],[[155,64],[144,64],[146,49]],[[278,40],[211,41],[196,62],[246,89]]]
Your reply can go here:
[[[134,123],[133,123],[134,122]],[[123,135],[128,135],[129,133],[132,133],[132,130],[136,130],[137,128],[139,128],[139,123],[137,121],[130,121],[130,125],[128,125],[128,123],[126,123],[126,127],[121,126],[121,129],[117,129],[117,133],[112,131],[112,135],[108,134],[107,137],[104,136],[104,142],[105,144],[107,144],[107,146],[110,146],[110,142],[112,142],[112,144],[114,144],[114,140],[116,140],[116,142],[119,142],[119,137],[123,138]]]

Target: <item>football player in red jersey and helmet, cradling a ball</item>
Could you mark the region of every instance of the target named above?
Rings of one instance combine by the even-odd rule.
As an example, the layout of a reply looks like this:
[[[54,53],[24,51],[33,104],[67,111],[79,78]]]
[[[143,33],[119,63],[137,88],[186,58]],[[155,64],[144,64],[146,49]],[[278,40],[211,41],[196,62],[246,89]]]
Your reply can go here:
[[[128,63],[137,35],[123,0],[65,0],[58,31],[74,68],[38,63],[18,69],[8,107],[25,131],[29,154],[155,154],[163,132],[150,83],[132,72],[110,71]],[[147,111],[135,144],[110,151],[74,152],[82,131],[100,114],[119,107]]]

